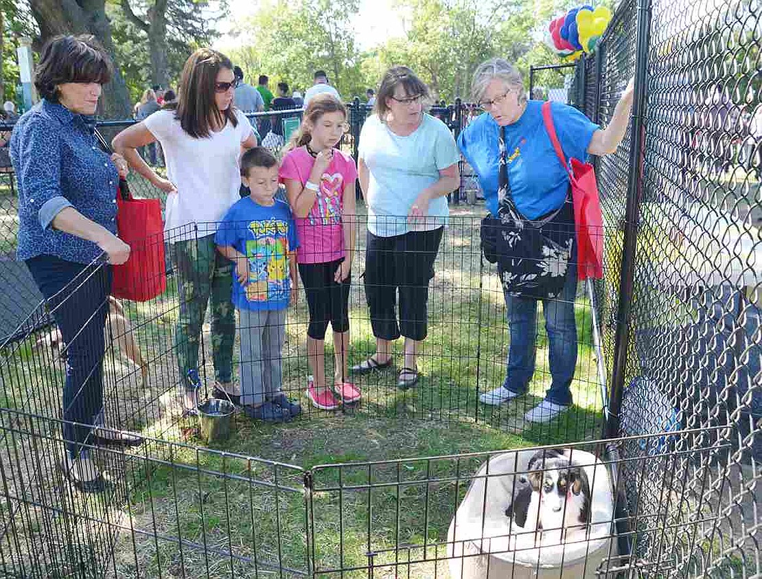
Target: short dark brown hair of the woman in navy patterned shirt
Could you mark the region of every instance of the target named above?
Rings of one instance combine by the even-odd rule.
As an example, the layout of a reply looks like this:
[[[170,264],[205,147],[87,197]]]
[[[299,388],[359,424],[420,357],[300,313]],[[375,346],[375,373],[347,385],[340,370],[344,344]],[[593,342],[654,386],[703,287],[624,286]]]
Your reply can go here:
[[[48,40],[34,69],[34,86],[46,101],[58,102],[58,85],[98,82],[105,85],[114,68],[104,47],[92,34],[56,36]]]

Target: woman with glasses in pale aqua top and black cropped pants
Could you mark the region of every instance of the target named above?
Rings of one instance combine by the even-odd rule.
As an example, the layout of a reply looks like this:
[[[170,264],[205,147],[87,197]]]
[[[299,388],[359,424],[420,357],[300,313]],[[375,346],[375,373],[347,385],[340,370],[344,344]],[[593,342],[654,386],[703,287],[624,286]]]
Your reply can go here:
[[[397,380],[402,389],[418,382],[428,285],[448,216],[445,195],[460,185],[453,134],[424,111],[427,102],[428,88],[411,69],[386,71],[375,114],[360,133],[357,166],[368,207],[364,279],[376,353],[352,371],[390,365],[392,340],[405,336],[405,362]]]

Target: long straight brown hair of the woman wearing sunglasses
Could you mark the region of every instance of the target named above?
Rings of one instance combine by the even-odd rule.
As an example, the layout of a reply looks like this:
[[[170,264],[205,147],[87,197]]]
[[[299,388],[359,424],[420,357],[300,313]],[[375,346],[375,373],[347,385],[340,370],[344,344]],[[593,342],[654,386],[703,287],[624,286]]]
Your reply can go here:
[[[219,111],[214,101],[214,84],[222,69],[232,72],[233,63],[223,53],[211,48],[200,48],[185,61],[175,117],[191,137],[209,137],[210,117],[216,117],[221,124],[230,121],[233,127],[238,125],[233,105]]]

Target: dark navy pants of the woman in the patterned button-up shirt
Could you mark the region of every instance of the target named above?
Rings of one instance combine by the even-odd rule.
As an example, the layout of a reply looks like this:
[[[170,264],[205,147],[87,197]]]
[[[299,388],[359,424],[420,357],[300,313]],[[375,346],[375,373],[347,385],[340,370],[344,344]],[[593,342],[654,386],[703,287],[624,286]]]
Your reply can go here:
[[[55,256],[27,259],[66,343],[63,420],[94,424],[103,411],[104,323],[111,293],[110,265],[83,265]],[[53,395],[52,393],[50,395]],[[91,428],[63,425],[71,458],[88,442]]]

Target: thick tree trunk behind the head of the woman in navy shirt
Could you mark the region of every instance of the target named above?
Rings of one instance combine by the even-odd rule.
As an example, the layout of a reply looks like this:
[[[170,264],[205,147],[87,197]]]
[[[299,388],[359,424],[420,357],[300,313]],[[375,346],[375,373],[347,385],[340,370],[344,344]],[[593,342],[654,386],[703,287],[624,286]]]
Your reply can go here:
[[[98,103],[98,114],[106,118],[130,117],[130,95],[114,60],[114,41],[111,40],[111,23],[106,17],[105,0],[29,0],[29,5],[40,27],[40,47],[57,34],[93,34],[101,41],[114,62],[114,75],[104,85],[103,96]]]

